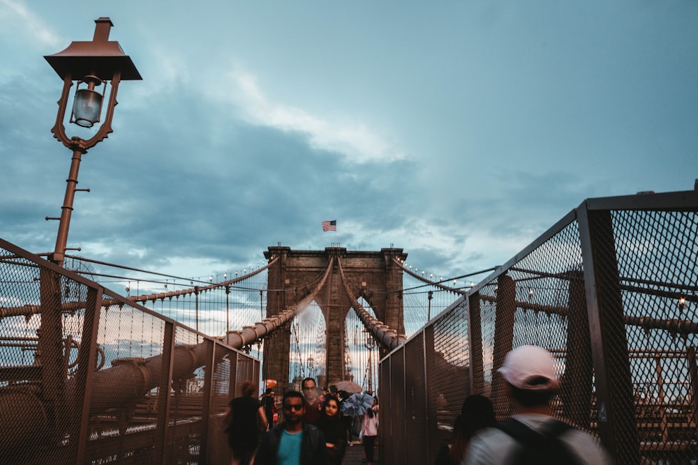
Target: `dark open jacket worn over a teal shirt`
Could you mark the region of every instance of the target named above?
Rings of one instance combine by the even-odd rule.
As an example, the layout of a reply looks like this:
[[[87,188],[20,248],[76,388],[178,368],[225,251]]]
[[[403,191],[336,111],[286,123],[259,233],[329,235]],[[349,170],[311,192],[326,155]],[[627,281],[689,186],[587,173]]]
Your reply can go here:
[[[276,465],[279,441],[285,422],[276,425],[262,436],[262,443],[255,455],[255,465]],[[301,465],[325,465],[327,462],[327,450],[325,449],[325,436],[320,429],[313,425],[303,423],[303,440],[301,441]]]

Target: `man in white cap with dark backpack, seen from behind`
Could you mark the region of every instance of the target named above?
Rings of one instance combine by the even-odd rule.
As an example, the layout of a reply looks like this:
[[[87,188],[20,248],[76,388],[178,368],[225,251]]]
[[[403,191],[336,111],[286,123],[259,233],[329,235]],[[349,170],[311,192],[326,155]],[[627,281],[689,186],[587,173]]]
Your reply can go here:
[[[484,429],[470,441],[463,464],[611,464],[598,440],[551,416],[558,389],[551,354],[538,346],[507,353],[498,369],[514,407],[512,420]]]

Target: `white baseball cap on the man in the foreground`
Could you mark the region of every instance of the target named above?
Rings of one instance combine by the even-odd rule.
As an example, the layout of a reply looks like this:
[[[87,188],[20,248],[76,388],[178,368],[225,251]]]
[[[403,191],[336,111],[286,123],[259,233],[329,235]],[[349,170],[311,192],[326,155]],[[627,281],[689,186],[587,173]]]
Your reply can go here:
[[[554,390],[559,386],[553,356],[539,346],[521,346],[504,358],[497,370],[514,388],[523,390]]]

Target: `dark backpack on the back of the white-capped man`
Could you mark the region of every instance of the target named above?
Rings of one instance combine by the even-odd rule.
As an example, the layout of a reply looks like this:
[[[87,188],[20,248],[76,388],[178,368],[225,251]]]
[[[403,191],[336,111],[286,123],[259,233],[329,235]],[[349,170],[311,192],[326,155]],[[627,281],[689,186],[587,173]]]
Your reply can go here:
[[[572,425],[559,420],[550,420],[540,431],[530,429],[519,420],[514,418],[501,422],[496,428],[511,436],[523,449],[517,449],[507,457],[506,464],[530,464],[530,465],[553,465],[581,464],[579,459],[560,435]]]

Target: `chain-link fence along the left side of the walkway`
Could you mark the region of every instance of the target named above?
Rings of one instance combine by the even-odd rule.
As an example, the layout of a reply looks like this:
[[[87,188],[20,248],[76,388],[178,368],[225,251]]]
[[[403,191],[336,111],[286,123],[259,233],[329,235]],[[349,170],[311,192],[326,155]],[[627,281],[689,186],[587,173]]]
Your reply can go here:
[[[0,239],[0,463],[221,464],[259,360]]]

